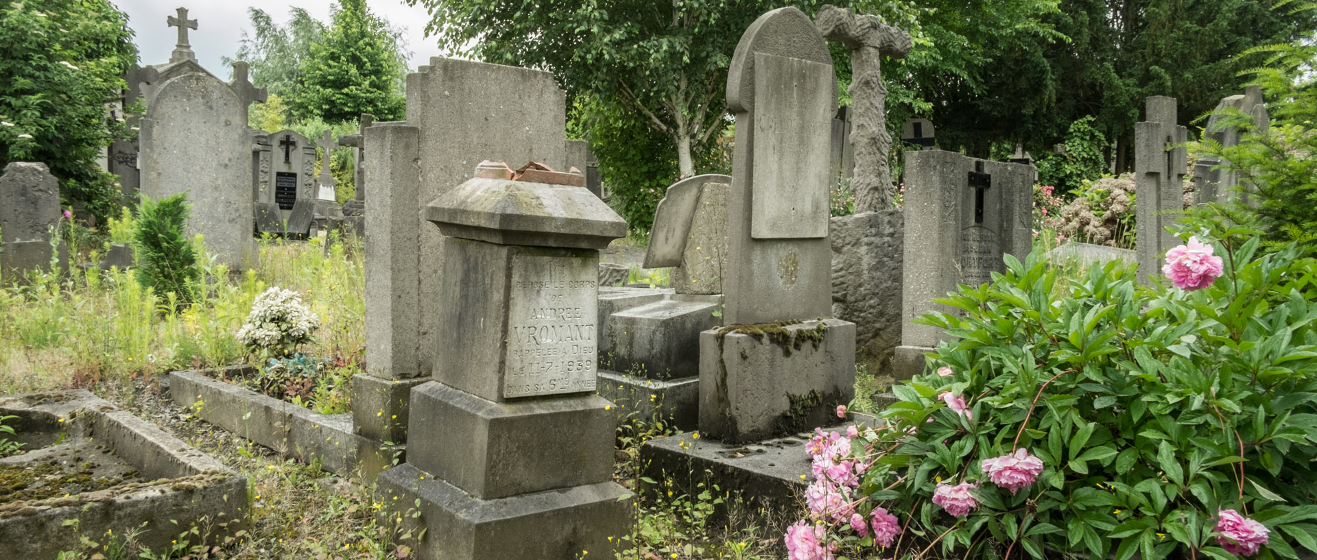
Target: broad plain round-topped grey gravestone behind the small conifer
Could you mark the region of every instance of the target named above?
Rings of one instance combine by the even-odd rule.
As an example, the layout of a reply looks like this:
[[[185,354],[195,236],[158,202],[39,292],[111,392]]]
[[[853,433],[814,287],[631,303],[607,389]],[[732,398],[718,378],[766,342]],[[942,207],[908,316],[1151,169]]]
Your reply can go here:
[[[252,135],[233,91],[207,74],[170,79],[146,109],[141,145],[142,193],[187,192],[188,234],[230,269],[253,266]]]

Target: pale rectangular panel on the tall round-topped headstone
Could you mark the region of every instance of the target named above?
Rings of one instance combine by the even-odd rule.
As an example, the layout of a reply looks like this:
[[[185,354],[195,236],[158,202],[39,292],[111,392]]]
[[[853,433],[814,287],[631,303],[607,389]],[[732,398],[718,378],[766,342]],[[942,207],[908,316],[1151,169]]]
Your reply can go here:
[[[832,67],[755,53],[751,237],[827,237]]]

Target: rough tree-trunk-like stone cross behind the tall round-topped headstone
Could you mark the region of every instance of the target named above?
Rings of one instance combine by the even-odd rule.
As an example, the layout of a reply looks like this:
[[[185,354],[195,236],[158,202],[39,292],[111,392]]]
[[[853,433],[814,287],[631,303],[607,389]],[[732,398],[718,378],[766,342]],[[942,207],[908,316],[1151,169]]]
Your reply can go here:
[[[851,103],[855,113],[851,146],[855,150],[855,212],[877,212],[892,208],[896,187],[888,159],[892,135],[888,134],[884,104],[888,89],[882,87],[882,57],[905,58],[910,53],[910,34],[882,24],[877,16],[861,16],[849,8],[824,4],[815,25],[828,41],[840,42],[851,51]]]

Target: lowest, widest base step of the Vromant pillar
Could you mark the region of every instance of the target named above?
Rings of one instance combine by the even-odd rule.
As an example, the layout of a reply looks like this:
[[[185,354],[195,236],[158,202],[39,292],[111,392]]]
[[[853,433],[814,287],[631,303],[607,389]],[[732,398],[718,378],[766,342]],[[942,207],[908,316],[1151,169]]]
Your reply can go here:
[[[566,560],[582,551],[611,559],[631,531],[631,501],[622,500],[630,492],[615,482],[478,500],[403,464],[379,475],[377,488],[390,507],[386,523],[402,523],[411,535],[425,530],[419,540],[404,539],[421,560]]]

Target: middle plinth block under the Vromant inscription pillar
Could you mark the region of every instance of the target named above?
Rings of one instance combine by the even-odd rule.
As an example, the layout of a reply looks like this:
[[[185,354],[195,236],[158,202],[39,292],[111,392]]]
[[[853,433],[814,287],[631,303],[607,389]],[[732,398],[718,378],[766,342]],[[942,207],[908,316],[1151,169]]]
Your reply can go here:
[[[494,402],[425,383],[411,392],[407,461],[482,500],[603,482],[608,408],[597,394]]]

